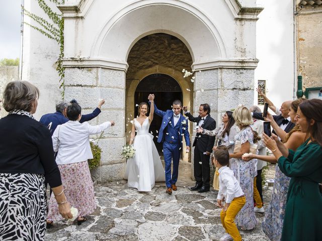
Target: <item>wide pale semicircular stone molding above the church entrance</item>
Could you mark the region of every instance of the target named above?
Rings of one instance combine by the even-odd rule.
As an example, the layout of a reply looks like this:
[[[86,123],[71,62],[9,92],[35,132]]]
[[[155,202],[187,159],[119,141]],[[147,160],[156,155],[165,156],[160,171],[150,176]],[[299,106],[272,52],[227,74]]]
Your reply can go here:
[[[190,26],[194,26],[193,30]],[[224,41],[214,23],[196,7],[175,0],[162,3],[141,0],[124,7],[95,38],[91,56],[113,56],[114,59],[109,61],[124,62],[131,47],[152,33],[167,33],[179,38],[190,50],[193,62],[226,58]],[[118,47],[111,47],[115,43],[118,43]]]

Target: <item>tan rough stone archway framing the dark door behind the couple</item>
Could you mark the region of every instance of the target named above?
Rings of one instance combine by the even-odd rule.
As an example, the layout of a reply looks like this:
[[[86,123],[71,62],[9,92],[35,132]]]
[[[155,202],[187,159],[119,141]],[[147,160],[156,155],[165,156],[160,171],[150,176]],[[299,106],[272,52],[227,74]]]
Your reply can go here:
[[[135,116],[135,104],[138,104],[135,102],[135,91],[140,86],[140,82],[146,80],[148,76],[151,76],[152,74],[154,74],[154,76],[155,74],[159,74],[159,76],[168,76],[169,79],[176,81],[178,88],[180,88],[180,98],[182,98],[181,101],[183,102],[183,105],[187,105],[190,108],[193,107],[193,91],[187,91],[187,89],[193,90],[193,83],[190,82],[190,79],[183,78],[182,73],[182,69],[190,69],[192,57],[187,46],[180,39],[163,33],[145,36],[144,38],[138,40],[132,47],[129,52],[127,62],[129,64],[129,68],[126,73],[125,99],[125,133],[127,134],[127,141],[129,138],[129,132],[131,130],[131,126],[128,124],[128,122],[129,119],[132,119],[133,116]],[[166,87],[162,85],[166,83],[166,79],[167,78],[163,78],[164,81],[160,79],[158,82],[159,86],[158,88],[154,88],[154,92],[158,92],[159,95],[162,94],[162,90]],[[164,93],[158,98],[174,97],[179,96],[175,94],[166,96]],[[174,99],[170,99],[168,102],[172,102],[173,100]],[[168,106],[162,107],[164,107],[164,109],[160,109],[171,109],[171,103]],[[185,161],[189,161],[190,155],[184,153],[183,159]]]

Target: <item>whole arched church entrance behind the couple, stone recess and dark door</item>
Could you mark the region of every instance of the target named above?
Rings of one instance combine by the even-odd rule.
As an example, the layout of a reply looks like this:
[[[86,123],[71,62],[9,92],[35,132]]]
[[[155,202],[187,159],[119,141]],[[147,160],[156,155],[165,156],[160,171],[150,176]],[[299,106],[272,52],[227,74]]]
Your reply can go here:
[[[162,110],[171,109],[173,100],[180,99],[183,105],[193,107],[193,83],[183,77],[182,69],[191,69],[192,57],[187,46],[177,37],[157,33],[138,40],[128,55],[126,72],[126,138],[129,140],[130,119],[137,115],[136,104],[147,101],[149,93],[155,94],[155,103]],[[155,116],[155,115],[154,115]],[[161,120],[155,116],[151,131],[155,136]],[[162,153],[162,145],[154,143]],[[185,143],[184,143],[185,145]],[[189,161],[190,153],[183,154]]]

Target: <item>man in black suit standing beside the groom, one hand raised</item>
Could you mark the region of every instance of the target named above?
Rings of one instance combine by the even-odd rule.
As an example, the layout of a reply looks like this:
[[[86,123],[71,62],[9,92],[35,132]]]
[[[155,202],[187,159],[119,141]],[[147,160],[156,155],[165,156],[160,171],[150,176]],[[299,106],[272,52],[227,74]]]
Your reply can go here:
[[[206,130],[214,130],[216,122],[210,116],[209,104],[201,104],[199,106],[199,116],[194,117],[189,113],[187,106],[183,106],[185,115],[189,121],[197,123],[197,128],[202,127]],[[212,152],[215,137],[208,135],[197,134],[193,143],[194,150],[194,176],[196,185],[191,187],[190,190],[198,192],[208,192],[210,189],[210,164],[209,158]]]

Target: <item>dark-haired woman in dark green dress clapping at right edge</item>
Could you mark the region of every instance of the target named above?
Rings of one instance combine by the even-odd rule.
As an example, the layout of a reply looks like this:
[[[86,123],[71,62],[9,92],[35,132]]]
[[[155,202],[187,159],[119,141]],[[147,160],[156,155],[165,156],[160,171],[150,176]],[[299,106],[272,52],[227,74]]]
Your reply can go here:
[[[322,100],[303,101],[295,121],[310,135],[296,152],[288,150],[275,135],[269,138],[263,134],[280,170],[291,177],[281,240],[322,240],[322,195],[318,188],[322,182]]]

